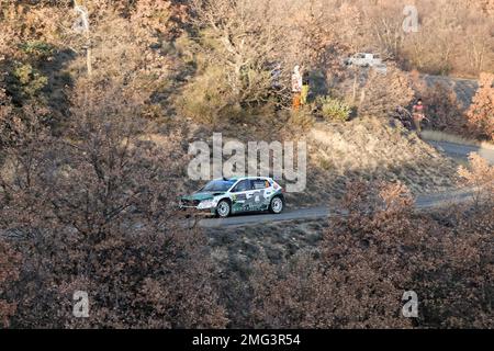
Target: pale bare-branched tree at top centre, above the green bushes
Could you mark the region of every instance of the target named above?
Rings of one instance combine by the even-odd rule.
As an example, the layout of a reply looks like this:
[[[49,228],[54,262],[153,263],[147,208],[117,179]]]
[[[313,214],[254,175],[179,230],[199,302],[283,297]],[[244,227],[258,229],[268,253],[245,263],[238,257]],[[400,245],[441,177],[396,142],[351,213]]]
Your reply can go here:
[[[265,1],[194,0],[193,21],[211,63],[221,63],[224,75],[240,101],[256,102],[271,87],[269,65],[283,35],[273,23],[276,9]],[[259,21],[259,19],[263,21]],[[199,38],[198,38],[199,39]],[[265,77],[260,77],[267,72]]]

